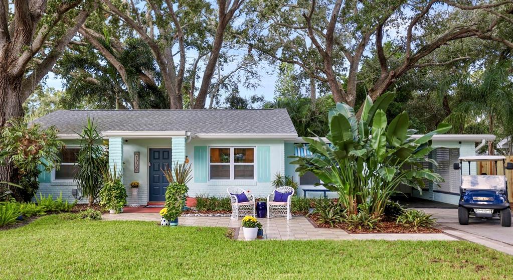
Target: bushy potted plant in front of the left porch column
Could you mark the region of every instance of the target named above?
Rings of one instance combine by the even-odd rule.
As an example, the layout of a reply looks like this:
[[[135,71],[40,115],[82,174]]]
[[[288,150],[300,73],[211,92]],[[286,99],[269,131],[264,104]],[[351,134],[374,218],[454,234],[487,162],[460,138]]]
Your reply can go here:
[[[102,173],[104,185],[100,190],[100,206],[108,209],[111,214],[123,212],[123,207],[127,204],[127,191],[121,180],[123,170],[116,172],[114,164],[112,170],[109,168]]]

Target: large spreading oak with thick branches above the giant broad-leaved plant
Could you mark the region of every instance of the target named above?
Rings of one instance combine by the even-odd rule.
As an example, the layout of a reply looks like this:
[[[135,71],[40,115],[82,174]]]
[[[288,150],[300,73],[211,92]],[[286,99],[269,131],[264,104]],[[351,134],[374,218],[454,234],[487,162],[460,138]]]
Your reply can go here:
[[[453,42],[479,38],[513,47],[497,33],[513,28],[513,1],[264,1],[255,11],[247,44],[272,60],[298,65],[328,84],[336,102],[351,106],[357,84],[365,79],[359,72],[366,52],[377,54],[381,68],[368,88],[375,100],[411,69],[469,59],[462,53],[438,54]],[[386,42],[399,47],[386,52]],[[397,53],[401,63],[391,65]]]

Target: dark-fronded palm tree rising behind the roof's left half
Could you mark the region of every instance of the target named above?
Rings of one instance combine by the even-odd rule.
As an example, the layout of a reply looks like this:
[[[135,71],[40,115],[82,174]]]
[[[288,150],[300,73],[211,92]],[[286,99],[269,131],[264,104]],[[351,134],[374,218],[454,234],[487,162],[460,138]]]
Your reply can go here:
[[[112,50],[108,42],[101,42],[116,55],[127,71],[126,83],[114,66],[107,62],[91,45],[79,46],[63,55],[57,72],[66,80],[67,107],[74,108],[86,100],[93,108],[147,109],[167,108],[165,92],[154,84],[139,78],[140,72],[151,73],[159,81],[160,73],[148,46],[140,39],[127,40],[122,51]]]

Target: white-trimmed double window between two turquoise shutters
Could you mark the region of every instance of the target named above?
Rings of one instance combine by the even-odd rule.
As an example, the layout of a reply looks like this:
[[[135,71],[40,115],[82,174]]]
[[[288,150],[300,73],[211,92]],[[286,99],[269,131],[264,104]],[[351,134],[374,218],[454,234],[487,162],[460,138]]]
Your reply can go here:
[[[253,180],[254,147],[210,147],[211,180]]]

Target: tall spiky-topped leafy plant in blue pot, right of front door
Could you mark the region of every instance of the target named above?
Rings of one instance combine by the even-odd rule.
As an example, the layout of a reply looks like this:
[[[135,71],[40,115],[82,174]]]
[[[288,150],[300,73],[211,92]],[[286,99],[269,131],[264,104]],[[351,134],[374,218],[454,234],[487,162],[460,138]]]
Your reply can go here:
[[[177,226],[178,217],[185,207],[187,191],[189,191],[187,183],[192,179],[191,166],[188,163],[175,162],[172,170],[168,166],[162,172],[169,182],[166,190],[166,213],[163,217],[169,221],[170,226]]]

